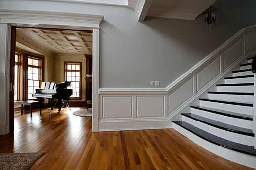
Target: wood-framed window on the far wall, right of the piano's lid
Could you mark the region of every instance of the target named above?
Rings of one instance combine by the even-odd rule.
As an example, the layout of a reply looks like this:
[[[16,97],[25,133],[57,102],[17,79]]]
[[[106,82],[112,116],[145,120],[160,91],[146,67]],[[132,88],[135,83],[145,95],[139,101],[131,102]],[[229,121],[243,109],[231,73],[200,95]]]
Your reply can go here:
[[[70,98],[81,99],[82,62],[64,61],[64,81],[71,81],[73,94]]]

